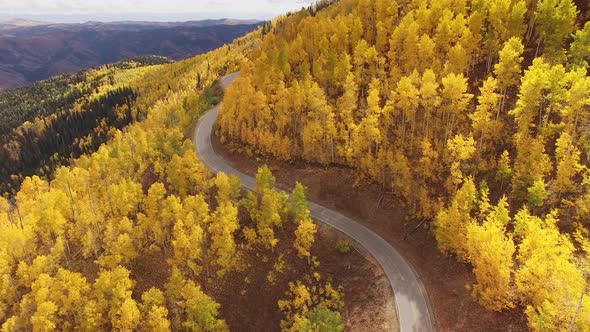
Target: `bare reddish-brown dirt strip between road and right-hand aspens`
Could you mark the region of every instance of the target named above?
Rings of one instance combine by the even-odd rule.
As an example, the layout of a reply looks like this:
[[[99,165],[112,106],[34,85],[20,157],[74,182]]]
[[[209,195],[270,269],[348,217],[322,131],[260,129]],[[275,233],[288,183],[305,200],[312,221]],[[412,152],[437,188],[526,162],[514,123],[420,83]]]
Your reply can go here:
[[[471,267],[442,256],[428,229],[420,228],[404,240],[416,222],[406,221],[403,207],[393,196],[383,196],[379,186],[356,183],[352,170],[248,156],[239,149],[222,145],[216,137],[213,146],[233,167],[249,175],[267,164],[282,189],[289,190],[296,180],[302,182],[308,187],[309,199],[355,218],[398,248],[422,278],[438,331],[527,330],[522,308],[498,313],[484,309],[473,300],[467,288],[475,281]]]

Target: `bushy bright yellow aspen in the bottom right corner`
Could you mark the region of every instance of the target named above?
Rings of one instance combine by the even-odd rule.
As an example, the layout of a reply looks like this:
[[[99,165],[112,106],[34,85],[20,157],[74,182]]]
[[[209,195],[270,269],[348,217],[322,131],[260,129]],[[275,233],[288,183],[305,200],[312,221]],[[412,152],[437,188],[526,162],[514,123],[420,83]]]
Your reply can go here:
[[[557,227],[552,212],[544,219],[524,209],[515,216],[515,233],[521,239],[515,273],[516,289],[527,305],[529,327],[534,330],[566,330],[585,287],[574,263],[575,247]]]

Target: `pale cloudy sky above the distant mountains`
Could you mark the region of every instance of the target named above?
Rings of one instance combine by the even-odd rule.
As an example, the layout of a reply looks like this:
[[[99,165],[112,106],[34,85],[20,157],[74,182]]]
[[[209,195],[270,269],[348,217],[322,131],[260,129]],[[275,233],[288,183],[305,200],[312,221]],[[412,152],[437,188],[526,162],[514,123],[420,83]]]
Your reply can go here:
[[[0,20],[48,22],[268,20],[308,6],[308,0],[0,0]]]

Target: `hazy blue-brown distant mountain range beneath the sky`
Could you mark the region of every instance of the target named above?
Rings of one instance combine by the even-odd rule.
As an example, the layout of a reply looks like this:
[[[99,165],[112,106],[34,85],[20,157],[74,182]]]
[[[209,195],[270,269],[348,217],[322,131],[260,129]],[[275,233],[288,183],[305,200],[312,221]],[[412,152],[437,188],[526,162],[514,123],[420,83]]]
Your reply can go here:
[[[189,22],[0,22],[0,90],[138,55],[180,60],[260,26],[256,20]]]

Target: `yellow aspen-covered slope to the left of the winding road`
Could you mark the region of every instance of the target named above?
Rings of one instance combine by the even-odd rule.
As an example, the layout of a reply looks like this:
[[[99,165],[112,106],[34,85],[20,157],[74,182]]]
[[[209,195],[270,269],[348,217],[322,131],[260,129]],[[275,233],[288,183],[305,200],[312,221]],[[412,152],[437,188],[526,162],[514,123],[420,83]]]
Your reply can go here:
[[[40,134],[97,120],[88,143],[103,130],[108,142],[0,197],[3,331],[227,331],[275,313],[284,330],[343,330],[341,290],[314,252],[305,188],[279,193],[261,168],[259,195],[243,195],[239,179],[213,177],[184,136],[215,102],[208,87],[260,36],[175,64],[90,71],[109,84],[47,115]],[[100,111],[92,121],[85,103]],[[141,121],[121,130],[131,119]],[[47,141],[58,144],[55,136]],[[242,311],[250,317],[238,320]]]

